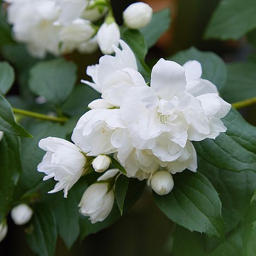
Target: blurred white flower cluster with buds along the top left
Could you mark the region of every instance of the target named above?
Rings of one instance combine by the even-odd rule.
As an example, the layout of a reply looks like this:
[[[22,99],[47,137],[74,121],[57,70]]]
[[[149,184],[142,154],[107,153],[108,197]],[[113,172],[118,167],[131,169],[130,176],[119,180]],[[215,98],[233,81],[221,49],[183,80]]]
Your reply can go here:
[[[32,56],[43,58],[70,53],[91,53],[99,45],[103,53],[118,45],[119,26],[112,16],[108,0],[5,0],[8,22],[14,38],[26,44]],[[150,22],[152,9],[144,3],[130,5],[124,11],[126,25],[143,27]],[[105,17],[105,20],[103,20]],[[139,20],[138,20],[139,17]],[[103,20],[101,26],[93,22]],[[98,24],[98,23],[97,23]]]

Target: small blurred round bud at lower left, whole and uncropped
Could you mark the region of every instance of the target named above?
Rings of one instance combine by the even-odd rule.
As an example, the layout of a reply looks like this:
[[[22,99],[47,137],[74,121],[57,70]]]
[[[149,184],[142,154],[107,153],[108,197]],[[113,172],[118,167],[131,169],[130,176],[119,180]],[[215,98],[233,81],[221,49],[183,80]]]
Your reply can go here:
[[[11,218],[16,225],[24,225],[31,220],[32,209],[27,204],[19,204],[11,210]]]

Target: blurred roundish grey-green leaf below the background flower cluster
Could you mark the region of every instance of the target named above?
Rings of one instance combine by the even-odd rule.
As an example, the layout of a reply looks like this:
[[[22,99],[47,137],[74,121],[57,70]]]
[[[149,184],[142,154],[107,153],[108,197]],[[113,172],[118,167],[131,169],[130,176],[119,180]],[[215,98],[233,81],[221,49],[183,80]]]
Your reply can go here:
[[[30,70],[29,87],[36,95],[60,105],[70,95],[76,82],[76,65],[64,59],[39,62]]]

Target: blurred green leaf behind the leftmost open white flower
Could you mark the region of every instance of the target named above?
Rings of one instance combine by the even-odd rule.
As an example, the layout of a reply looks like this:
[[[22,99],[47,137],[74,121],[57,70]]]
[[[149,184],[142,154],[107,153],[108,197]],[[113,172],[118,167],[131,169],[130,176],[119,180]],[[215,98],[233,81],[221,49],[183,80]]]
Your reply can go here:
[[[38,147],[40,139],[48,136],[65,138],[65,130],[62,125],[57,123],[29,120],[26,127],[34,137],[31,139],[21,139],[21,164],[23,173],[15,190],[15,198],[17,199],[39,184],[42,176],[44,176],[36,168],[45,154],[45,151]]]

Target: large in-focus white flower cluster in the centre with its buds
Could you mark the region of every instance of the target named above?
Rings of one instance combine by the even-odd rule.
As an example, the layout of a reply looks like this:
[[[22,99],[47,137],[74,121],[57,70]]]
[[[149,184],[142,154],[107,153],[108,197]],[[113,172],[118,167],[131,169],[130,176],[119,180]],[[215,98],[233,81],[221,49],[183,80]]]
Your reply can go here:
[[[44,179],[59,181],[51,192],[63,189],[66,197],[86,174],[88,164],[105,172],[111,164],[107,155],[113,154],[127,177],[147,179],[157,194],[167,194],[174,186],[173,174],[197,170],[192,141],[215,139],[227,130],[221,118],[231,106],[213,83],[201,78],[199,62],[190,60],[181,66],[160,59],[149,86],[130,47],[122,40],[119,44],[121,48],[113,45],[115,56],[105,55],[87,68],[93,82],[82,82],[99,92],[101,99],[91,102],[91,110],[78,120],[71,137],[74,144],[58,138],[39,143],[47,153],[38,170],[47,175]],[[84,192],[80,211],[92,223],[111,211],[118,175],[118,169],[107,170]]]

